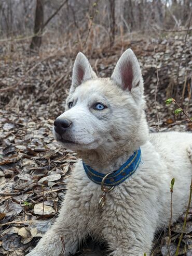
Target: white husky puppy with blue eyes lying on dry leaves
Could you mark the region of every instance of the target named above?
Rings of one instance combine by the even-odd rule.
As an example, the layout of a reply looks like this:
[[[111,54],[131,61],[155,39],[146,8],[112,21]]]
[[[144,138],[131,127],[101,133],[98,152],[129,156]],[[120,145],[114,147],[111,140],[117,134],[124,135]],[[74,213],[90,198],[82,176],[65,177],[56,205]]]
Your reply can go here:
[[[173,222],[186,210],[192,134],[149,133],[144,108],[141,69],[132,50],[122,54],[111,78],[98,78],[78,53],[66,109],[54,122],[53,134],[83,162],[73,169],[59,217],[28,255],[71,255],[87,235],[106,241],[109,255],[149,255],[155,231],[169,224],[173,177]],[[134,172],[125,173],[111,191],[112,186],[101,190],[95,173],[104,182],[134,152],[140,154]]]

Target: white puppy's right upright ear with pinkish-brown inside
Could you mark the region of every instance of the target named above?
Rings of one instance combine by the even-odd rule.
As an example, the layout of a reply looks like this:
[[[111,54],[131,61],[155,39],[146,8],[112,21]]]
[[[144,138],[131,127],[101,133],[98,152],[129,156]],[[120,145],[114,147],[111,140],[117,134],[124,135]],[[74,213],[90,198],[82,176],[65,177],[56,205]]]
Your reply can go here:
[[[131,91],[141,84],[141,68],[138,59],[130,48],[121,55],[111,78],[122,90]]]

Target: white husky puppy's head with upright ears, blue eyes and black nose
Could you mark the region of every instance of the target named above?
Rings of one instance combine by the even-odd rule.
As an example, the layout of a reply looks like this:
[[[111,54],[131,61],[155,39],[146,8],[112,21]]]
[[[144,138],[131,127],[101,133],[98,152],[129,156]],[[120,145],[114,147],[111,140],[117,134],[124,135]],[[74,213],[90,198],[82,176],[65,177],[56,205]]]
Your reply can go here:
[[[143,79],[132,50],[122,54],[111,78],[98,78],[78,53],[65,112],[54,121],[53,135],[75,151],[138,148],[145,140],[141,133],[147,133],[143,107]]]

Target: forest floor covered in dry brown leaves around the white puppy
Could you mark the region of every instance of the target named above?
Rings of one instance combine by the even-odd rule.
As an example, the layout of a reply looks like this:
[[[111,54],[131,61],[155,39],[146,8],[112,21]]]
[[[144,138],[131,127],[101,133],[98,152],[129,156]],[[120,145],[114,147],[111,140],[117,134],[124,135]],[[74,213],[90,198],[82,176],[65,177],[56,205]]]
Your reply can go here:
[[[143,72],[150,131],[191,131],[185,116],[174,116],[176,106],[164,103],[175,95],[178,80],[179,103],[192,114],[192,36],[184,51],[183,45],[183,35],[170,35],[127,40],[123,47],[117,43],[87,55],[99,76],[109,76],[122,51],[131,47]],[[67,55],[60,45],[45,45],[36,55],[29,54],[28,47],[21,42],[0,45],[0,255],[24,255],[36,245],[56,218],[78,161],[52,136],[53,121],[64,110],[76,52]],[[192,255],[189,213],[180,250],[180,255],[187,256]],[[183,217],[172,227],[171,253],[182,221]],[[167,228],[156,237],[153,255],[168,255]],[[102,250],[103,245],[89,241],[75,255],[104,255]]]

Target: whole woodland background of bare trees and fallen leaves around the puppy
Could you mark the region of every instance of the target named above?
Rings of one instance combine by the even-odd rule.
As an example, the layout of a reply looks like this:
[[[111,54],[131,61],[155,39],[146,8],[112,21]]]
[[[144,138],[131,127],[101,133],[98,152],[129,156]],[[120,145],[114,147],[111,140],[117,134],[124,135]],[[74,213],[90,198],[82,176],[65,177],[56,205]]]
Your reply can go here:
[[[31,250],[64,198],[77,158],[51,130],[79,51],[103,77],[131,47],[143,72],[150,130],[191,131],[184,115],[174,115],[175,104],[164,103],[174,97],[192,115],[191,9],[190,0],[0,0],[0,255]],[[191,214],[179,255],[192,255]],[[171,255],[182,222],[181,212]],[[155,237],[153,255],[168,255],[167,228]],[[89,238],[75,255],[105,250]]]

